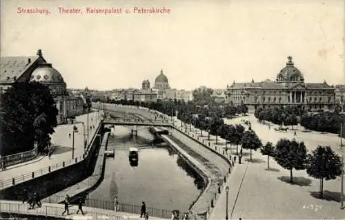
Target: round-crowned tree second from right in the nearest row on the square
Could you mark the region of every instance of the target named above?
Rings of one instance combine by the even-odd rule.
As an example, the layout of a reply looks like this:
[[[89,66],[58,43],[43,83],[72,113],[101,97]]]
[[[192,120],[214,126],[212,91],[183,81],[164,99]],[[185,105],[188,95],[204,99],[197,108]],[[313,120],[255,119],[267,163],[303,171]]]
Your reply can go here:
[[[306,168],[306,146],[304,142],[297,143],[287,139],[280,139],[275,146],[275,161],[282,168],[290,170],[290,183],[293,183],[293,168]]]

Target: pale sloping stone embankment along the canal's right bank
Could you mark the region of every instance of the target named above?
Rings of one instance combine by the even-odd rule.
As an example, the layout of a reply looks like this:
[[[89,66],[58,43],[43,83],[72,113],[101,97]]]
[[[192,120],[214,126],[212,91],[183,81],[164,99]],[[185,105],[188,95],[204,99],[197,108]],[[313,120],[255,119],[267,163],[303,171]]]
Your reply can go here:
[[[143,107],[138,108],[137,106],[108,104],[106,105],[106,108],[114,112],[121,111],[141,115],[146,119],[152,119],[153,114],[159,115],[166,120],[171,119],[168,115]],[[210,141],[206,141],[192,132],[184,131],[184,129],[179,125],[180,123],[176,123],[175,121],[175,124],[172,127],[174,128],[172,130],[172,141],[177,143],[180,147],[185,146],[184,150],[186,150],[188,154],[192,154],[193,157],[198,158],[199,161],[202,161],[202,164],[211,172],[204,172],[210,180],[208,182],[209,186],[207,186],[203,194],[200,195],[192,209],[199,210],[204,213],[210,213],[219,197],[219,194],[221,193],[226,179],[228,179],[231,168],[233,167],[233,162],[227,157],[228,155],[224,149],[219,149],[219,147],[217,148],[217,146],[210,143]],[[186,146],[188,146],[189,150]],[[208,193],[206,193],[206,191],[208,191]],[[201,203],[204,203],[204,208],[201,208]]]

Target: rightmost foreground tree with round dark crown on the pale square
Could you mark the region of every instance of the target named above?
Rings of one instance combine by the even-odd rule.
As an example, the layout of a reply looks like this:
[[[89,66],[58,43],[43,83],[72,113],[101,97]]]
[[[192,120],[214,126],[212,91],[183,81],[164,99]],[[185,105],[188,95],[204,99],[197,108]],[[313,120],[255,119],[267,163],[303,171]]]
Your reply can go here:
[[[317,146],[308,154],[306,173],[315,179],[320,179],[320,197],[323,197],[324,179],[336,179],[342,174],[341,158],[329,146]]]

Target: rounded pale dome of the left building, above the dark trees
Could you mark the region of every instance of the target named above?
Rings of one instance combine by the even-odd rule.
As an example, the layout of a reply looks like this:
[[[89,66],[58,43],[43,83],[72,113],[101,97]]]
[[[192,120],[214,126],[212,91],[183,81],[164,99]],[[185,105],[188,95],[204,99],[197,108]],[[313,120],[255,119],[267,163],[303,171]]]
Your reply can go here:
[[[61,74],[52,68],[52,64],[44,63],[41,64],[31,74],[30,81],[37,81],[41,83],[65,83]]]

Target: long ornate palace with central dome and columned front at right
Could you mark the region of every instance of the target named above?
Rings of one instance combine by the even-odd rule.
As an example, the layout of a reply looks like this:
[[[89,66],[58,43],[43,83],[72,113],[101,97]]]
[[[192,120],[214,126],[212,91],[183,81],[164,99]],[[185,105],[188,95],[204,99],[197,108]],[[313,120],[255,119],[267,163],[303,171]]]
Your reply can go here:
[[[310,110],[331,110],[335,105],[335,88],[324,83],[305,83],[292,57],[277,74],[275,81],[236,83],[226,88],[226,102],[246,104],[249,110],[258,106],[303,106]]]

